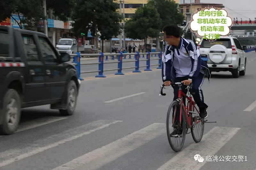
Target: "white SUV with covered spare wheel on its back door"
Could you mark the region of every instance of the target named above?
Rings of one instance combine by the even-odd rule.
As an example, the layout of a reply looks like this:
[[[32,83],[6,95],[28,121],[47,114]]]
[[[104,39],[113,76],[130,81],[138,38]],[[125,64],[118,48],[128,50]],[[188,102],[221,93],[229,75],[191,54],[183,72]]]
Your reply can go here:
[[[220,36],[216,41],[202,39],[197,47],[210,72],[230,71],[234,78],[245,75],[246,46],[242,47],[235,36]]]

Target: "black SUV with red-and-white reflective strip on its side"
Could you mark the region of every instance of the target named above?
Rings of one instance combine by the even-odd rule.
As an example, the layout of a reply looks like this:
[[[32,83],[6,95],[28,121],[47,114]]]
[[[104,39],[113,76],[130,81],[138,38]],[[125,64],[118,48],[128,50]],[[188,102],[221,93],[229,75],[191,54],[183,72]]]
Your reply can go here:
[[[0,26],[0,134],[15,132],[21,108],[74,113],[81,81],[69,60],[43,33]]]

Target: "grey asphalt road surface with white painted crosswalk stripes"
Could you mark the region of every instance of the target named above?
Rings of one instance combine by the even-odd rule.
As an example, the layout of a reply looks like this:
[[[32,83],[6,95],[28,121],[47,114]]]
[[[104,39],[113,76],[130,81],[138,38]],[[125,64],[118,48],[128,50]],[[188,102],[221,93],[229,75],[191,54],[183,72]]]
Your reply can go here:
[[[159,96],[161,71],[153,70],[83,81],[72,116],[23,109],[18,132],[0,136],[0,170],[255,170],[255,65],[256,53],[247,53],[245,76],[205,79],[207,119],[217,123],[205,124],[200,143],[187,134],[178,153],[165,125],[173,91]]]

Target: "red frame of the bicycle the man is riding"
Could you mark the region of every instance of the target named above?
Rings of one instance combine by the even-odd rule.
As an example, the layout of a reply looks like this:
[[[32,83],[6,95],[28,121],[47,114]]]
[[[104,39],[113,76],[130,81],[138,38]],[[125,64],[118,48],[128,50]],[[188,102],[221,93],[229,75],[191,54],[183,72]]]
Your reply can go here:
[[[200,119],[197,122],[194,122],[194,124],[191,124],[191,118],[192,118],[191,111],[194,112],[194,110],[192,110],[192,106],[193,106],[193,108],[196,109],[197,113],[199,113],[199,110],[195,107],[195,101],[192,100],[191,93],[189,94],[189,96],[187,96],[184,92],[182,92],[182,88],[181,88],[182,84],[181,83],[175,83],[175,84],[178,84],[178,86],[179,86],[178,99],[176,99],[176,100],[180,102],[180,106],[182,106],[185,111],[185,119],[187,122],[187,128],[192,128],[197,123],[201,122],[201,119]],[[183,97],[188,99],[187,106],[184,106]],[[172,125],[174,125],[174,121],[175,121],[176,107],[174,109],[174,112],[175,113],[173,115]],[[179,124],[179,126],[181,126],[181,116],[182,116],[181,113],[182,113],[182,109],[180,109],[180,124]]]

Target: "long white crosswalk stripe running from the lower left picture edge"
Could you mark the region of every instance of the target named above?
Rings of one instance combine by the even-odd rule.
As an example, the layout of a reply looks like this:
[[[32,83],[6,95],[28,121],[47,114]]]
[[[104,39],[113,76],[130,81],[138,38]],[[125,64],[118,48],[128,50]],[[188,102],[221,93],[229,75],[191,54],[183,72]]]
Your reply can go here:
[[[117,122],[122,122],[122,121],[98,120],[95,122],[90,122],[88,124],[76,127],[74,129],[69,129],[60,134],[55,134],[47,138],[39,139],[33,142],[32,144],[30,144],[28,147],[15,148],[15,149],[10,149],[4,152],[0,152],[0,160],[1,160],[0,167],[6,166],[15,161],[43,152],[47,149],[53,148],[60,144],[64,144],[68,141],[72,141],[78,137],[88,135],[97,130],[104,129],[109,125]],[[56,141],[56,139],[59,141],[54,142]]]

